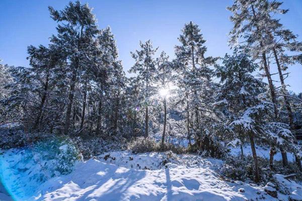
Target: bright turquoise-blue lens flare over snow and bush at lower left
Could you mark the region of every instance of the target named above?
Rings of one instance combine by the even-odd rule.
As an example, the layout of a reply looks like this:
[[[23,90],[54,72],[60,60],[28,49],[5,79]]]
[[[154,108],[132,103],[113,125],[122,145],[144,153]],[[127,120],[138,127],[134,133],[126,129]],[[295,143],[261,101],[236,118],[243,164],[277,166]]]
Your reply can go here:
[[[31,146],[0,150],[0,153],[0,180],[5,193],[16,201],[39,198],[45,193],[37,191],[40,185],[70,173],[81,157],[72,141],[65,137],[51,137]]]

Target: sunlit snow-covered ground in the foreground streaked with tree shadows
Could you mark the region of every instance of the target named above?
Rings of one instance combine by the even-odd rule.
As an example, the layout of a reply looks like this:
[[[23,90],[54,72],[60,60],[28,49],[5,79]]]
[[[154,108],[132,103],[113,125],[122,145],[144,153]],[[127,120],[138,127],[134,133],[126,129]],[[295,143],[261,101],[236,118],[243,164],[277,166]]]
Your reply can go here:
[[[14,168],[20,159],[9,150],[1,160],[5,167]],[[2,173],[12,174],[3,182],[13,188],[13,195],[18,194],[15,200],[278,200],[265,192],[271,186],[224,180],[216,173],[222,163],[196,155],[118,151],[78,162],[70,174],[45,182],[27,176],[40,171],[37,164],[19,170],[18,175],[8,169]],[[290,196],[302,199],[302,185],[277,177],[289,187]],[[288,195],[278,193],[278,198],[287,200]]]

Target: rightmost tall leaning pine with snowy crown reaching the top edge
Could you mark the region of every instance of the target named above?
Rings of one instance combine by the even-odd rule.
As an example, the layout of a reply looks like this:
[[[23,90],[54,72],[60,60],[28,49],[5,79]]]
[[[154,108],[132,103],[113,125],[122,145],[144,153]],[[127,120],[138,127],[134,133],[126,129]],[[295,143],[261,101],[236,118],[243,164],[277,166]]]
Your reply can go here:
[[[286,89],[284,79],[286,79],[288,76],[288,73],[285,72],[288,68],[288,65],[301,62],[301,57],[300,55],[297,55],[297,52],[302,51],[302,43],[297,42],[297,36],[294,35],[289,29],[284,28],[280,23],[280,20],[275,18],[277,14],[286,14],[288,11],[281,9],[281,5],[281,2],[274,1],[271,3],[266,0],[260,5],[264,6],[262,9],[254,8],[254,10],[258,10],[257,14],[255,12],[255,17],[258,18],[257,20],[261,24],[263,24],[262,28],[265,30],[263,34],[266,38],[265,46],[268,48],[267,51],[273,55],[272,60],[274,60],[278,69],[281,84],[281,94],[276,95],[283,96],[287,116],[284,122],[289,124],[290,130],[293,132],[295,127],[293,122],[293,114],[290,106],[290,97],[288,97],[288,91]],[[296,163],[299,169],[302,170],[300,159],[297,158],[297,156]]]

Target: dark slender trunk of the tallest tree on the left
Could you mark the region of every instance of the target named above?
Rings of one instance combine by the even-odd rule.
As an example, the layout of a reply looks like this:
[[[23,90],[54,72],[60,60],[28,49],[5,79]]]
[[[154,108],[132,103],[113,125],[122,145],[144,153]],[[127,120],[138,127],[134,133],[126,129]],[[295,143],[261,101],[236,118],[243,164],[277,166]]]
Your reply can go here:
[[[65,135],[68,133],[69,126],[70,126],[70,115],[71,115],[71,108],[72,108],[72,103],[73,103],[73,95],[74,95],[74,87],[75,87],[76,79],[77,79],[77,71],[73,70],[69,94],[68,94],[67,111],[66,111],[66,116],[65,116],[65,125],[64,125],[64,134]]]

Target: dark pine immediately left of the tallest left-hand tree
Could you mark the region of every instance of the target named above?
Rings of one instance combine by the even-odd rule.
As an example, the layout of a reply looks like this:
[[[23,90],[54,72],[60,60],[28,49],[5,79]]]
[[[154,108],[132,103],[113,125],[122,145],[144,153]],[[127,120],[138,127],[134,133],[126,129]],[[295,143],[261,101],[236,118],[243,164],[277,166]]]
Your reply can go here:
[[[49,124],[51,118],[53,118],[53,112],[56,111],[56,105],[52,105],[51,99],[55,97],[55,89],[57,82],[59,82],[61,73],[58,68],[61,69],[64,59],[61,59],[60,54],[51,48],[46,48],[40,45],[38,48],[34,46],[28,47],[28,59],[30,61],[31,68],[31,93],[36,98],[34,108],[30,112],[35,120],[32,123],[33,130],[40,130],[40,126],[47,128],[46,124]],[[51,112],[53,111],[53,112]],[[47,114],[47,115],[46,115]],[[42,119],[44,124],[41,125]]]

